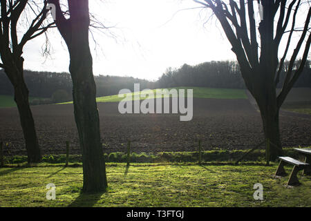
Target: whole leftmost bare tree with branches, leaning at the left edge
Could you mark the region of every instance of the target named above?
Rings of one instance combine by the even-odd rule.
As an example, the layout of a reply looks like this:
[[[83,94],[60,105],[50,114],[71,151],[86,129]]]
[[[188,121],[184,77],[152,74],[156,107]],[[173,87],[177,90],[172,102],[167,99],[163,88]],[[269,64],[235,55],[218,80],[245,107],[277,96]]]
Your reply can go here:
[[[0,67],[4,69],[14,86],[14,99],[19,110],[29,163],[39,162],[41,153],[29,106],[28,88],[23,79],[23,46],[53,26],[53,22],[44,23],[48,12],[47,1],[40,2],[41,4],[28,0],[0,1],[0,54],[2,61]],[[24,17],[21,16],[23,13],[26,13]],[[33,19],[30,20],[32,17]],[[19,21],[22,23],[21,27],[18,27]],[[27,27],[27,24],[29,26],[19,40],[20,28]]]

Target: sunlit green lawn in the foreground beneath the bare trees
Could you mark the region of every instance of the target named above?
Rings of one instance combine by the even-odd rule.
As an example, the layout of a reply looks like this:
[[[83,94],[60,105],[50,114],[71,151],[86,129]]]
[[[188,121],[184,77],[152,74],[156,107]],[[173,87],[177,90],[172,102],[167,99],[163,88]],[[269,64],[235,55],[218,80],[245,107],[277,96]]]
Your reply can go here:
[[[107,164],[106,193],[81,194],[82,167],[39,164],[0,169],[0,206],[311,206],[311,177],[285,188],[274,178],[276,164]],[[291,167],[286,167],[290,172]],[[46,184],[56,200],[46,200]],[[263,200],[254,200],[254,184],[263,184]]]

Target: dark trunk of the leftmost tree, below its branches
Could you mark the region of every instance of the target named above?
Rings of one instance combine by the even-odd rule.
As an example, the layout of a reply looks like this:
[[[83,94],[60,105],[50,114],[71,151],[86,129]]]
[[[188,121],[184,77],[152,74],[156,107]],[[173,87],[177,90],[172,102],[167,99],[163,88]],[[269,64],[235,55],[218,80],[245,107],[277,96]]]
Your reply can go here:
[[[28,101],[29,91],[25,81],[23,80],[23,68],[18,68],[16,71],[19,73],[10,74],[8,70],[6,70],[6,73],[14,86],[14,99],[19,111],[19,119],[21,122],[21,128],[23,129],[23,137],[26,142],[28,163],[37,163],[41,161],[41,151],[35,130],[35,122],[32,117]]]

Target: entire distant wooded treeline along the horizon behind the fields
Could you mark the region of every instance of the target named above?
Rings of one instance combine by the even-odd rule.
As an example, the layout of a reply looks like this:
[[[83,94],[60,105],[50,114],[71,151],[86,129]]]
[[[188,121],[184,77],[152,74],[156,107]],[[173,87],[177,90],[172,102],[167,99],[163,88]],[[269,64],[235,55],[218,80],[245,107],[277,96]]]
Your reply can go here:
[[[298,61],[299,62],[299,61]],[[299,63],[297,63],[299,64]],[[295,64],[296,65],[296,64]],[[285,68],[288,62],[285,63]],[[280,84],[285,75],[281,75]],[[72,82],[69,73],[24,71],[30,97],[46,98],[48,102],[65,102],[72,99]],[[209,61],[196,66],[184,64],[180,68],[167,68],[158,81],[147,81],[133,77],[95,76],[97,97],[115,95],[123,88],[133,91],[134,83],[144,88],[169,88],[175,86],[197,86],[209,88],[245,88],[238,64],[235,61]],[[311,87],[311,61],[307,61],[295,87]],[[0,95],[13,95],[13,87],[3,70],[0,70]]]

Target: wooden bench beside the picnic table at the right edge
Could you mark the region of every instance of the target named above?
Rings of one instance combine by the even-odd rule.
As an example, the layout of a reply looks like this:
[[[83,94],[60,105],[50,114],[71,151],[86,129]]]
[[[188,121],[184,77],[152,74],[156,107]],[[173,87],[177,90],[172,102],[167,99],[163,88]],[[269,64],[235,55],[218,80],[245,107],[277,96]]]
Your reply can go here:
[[[294,168],[292,169],[292,173],[290,173],[290,178],[288,179],[288,184],[290,186],[294,186],[297,184],[300,184],[297,173],[305,168],[305,166],[308,166],[308,163],[301,162],[299,160],[295,160],[292,157],[279,157],[280,164],[278,166],[278,169],[276,169],[275,175],[276,176],[284,176],[286,175],[285,170],[284,170],[284,164],[292,164],[294,165]]]

